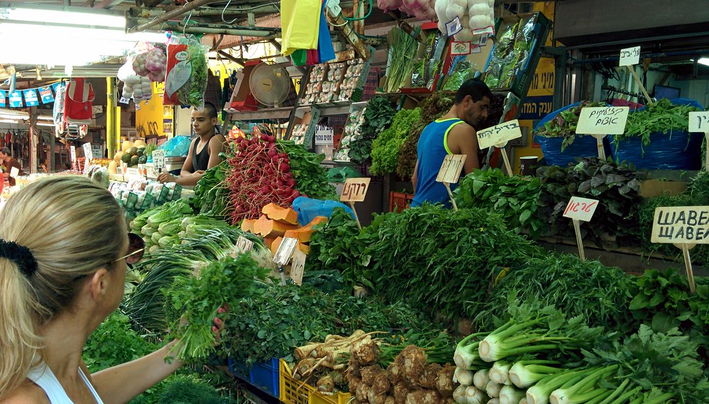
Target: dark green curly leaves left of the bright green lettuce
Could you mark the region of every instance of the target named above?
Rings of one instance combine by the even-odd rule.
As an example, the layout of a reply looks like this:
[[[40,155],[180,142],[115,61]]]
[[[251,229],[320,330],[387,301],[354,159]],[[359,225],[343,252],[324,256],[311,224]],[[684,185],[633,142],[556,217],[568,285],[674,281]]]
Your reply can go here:
[[[350,142],[352,162],[363,163],[369,159],[369,155],[372,153],[372,141],[382,130],[389,127],[395,113],[391,102],[386,97],[376,96],[369,100],[367,108],[364,110],[364,123],[359,130],[361,136]]]

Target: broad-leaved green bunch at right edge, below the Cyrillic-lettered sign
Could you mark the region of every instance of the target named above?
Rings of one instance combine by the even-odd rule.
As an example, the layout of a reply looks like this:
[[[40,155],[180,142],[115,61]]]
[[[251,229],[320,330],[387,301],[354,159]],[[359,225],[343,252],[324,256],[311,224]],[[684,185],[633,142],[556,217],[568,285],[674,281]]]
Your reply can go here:
[[[696,293],[691,293],[686,277],[676,269],[645,271],[631,285],[629,308],[655,332],[679,327],[703,347],[703,357],[709,359],[709,281],[696,277],[695,282]]]

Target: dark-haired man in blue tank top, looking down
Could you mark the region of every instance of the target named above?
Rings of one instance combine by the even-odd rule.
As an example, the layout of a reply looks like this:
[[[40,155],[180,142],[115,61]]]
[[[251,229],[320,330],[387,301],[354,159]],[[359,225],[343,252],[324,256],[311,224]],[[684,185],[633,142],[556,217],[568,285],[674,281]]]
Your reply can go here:
[[[411,206],[424,202],[442,203],[450,208],[445,186],[436,182],[446,155],[467,155],[464,172],[479,168],[476,125],[487,118],[492,93],[479,79],[464,82],[455,94],[452,108],[445,116],[429,123],[418,140],[418,160],[413,171],[415,195]],[[457,184],[450,184],[451,190]]]

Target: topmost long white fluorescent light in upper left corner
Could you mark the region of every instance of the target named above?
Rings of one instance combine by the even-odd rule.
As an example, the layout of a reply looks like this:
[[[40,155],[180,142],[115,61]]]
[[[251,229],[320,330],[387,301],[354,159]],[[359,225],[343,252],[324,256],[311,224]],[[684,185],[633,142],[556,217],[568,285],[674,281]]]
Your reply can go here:
[[[62,9],[10,6],[0,9],[0,19],[11,21],[34,21],[38,23],[78,24],[83,26],[113,27],[125,29],[125,16],[109,13],[79,11],[76,8]]]

